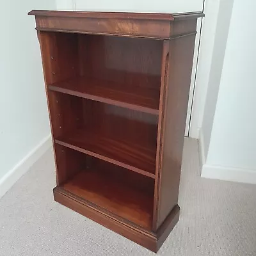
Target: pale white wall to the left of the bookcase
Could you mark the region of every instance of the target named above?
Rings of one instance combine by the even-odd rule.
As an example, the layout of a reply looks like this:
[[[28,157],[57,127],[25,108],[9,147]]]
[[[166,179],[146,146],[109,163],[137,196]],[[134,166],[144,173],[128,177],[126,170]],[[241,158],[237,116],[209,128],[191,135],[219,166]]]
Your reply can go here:
[[[51,0],[9,0],[0,6],[1,186],[1,178],[50,133],[35,19],[27,13],[56,6]]]

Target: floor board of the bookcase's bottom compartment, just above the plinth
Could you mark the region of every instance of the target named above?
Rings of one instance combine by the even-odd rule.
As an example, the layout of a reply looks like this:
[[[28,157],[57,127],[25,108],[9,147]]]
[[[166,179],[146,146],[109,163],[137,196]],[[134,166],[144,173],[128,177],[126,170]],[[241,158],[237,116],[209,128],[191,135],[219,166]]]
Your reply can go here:
[[[130,173],[134,175],[134,172]],[[152,229],[154,194],[151,192],[154,186],[149,190],[139,189],[131,186],[131,182],[127,184],[124,179],[109,175],[109,172],[89,169],[77,173],[61,188],[147,230]]]

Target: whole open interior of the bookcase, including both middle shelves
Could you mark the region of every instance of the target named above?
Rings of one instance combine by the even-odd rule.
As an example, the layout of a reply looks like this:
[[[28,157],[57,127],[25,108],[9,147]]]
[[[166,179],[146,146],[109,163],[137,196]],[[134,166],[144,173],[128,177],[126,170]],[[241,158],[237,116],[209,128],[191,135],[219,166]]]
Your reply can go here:
[[[163,42],[40,36],[58,186],[150,230]]]

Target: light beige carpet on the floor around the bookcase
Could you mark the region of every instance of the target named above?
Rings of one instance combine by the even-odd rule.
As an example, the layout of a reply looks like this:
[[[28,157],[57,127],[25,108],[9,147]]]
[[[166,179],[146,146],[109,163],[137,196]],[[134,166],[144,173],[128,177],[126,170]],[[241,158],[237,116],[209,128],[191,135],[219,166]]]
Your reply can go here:
[[[0,255],[155,255],[52,199],[49,150],[0,200]],[[256,255],[256,186],[200,178],[186,139],[180,221],[157,255]]]

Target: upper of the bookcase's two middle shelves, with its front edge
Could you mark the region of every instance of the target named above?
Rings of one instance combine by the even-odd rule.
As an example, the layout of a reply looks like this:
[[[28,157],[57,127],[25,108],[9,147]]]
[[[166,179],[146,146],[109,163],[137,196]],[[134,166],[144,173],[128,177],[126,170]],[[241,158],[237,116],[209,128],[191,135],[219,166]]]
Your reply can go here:
[[[159,113],[159,78],[150,77],[152,88],[122,86],[115,82],[76,77],[51,84],[49,90],[96,100],[153,115]]]

